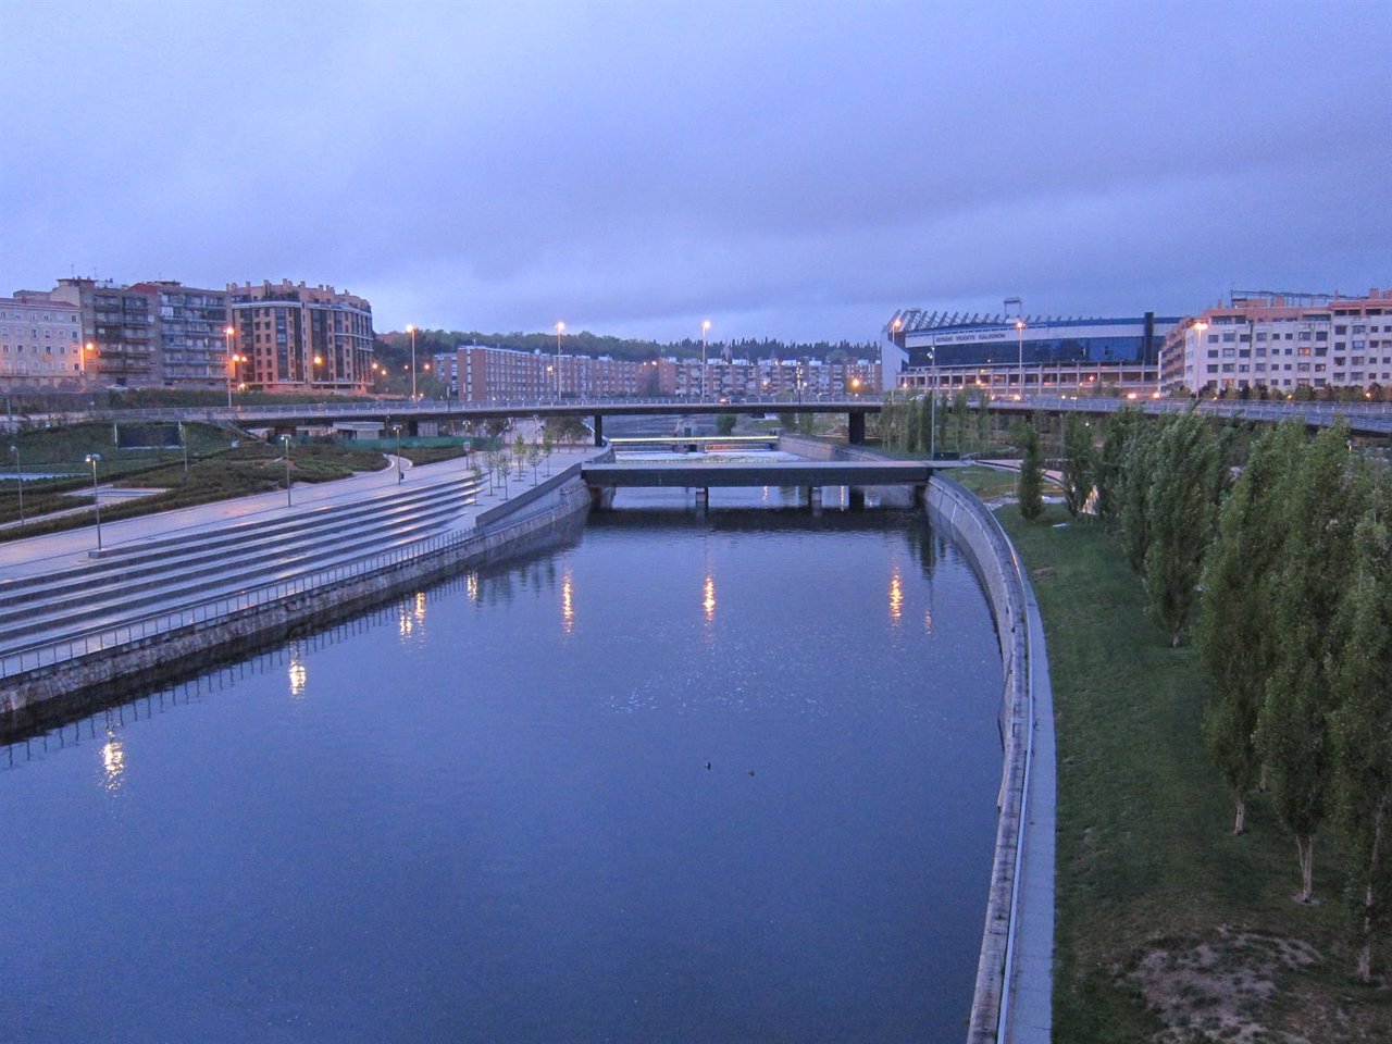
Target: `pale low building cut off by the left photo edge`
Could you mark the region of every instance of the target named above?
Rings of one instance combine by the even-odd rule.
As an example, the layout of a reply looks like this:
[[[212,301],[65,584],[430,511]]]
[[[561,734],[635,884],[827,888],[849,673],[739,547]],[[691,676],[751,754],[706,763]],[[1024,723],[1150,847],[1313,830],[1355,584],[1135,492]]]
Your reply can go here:
[[[88,355],[77,305],[42,291],[0,298],[0,388],[79,391]]]

